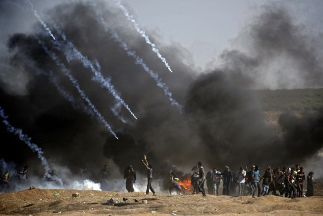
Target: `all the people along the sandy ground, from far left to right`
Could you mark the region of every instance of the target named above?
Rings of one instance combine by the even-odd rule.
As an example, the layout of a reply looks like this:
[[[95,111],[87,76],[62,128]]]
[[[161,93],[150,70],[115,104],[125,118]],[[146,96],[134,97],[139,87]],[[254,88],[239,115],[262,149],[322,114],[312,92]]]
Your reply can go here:
[[[149,194],[149,191],[155,195],[155,191],[152,187],[152,165],[148,163],[146,155],[142,158],[142,164],[147,171],[147,188],[145,195]],[[207,192],[210,195],[219,195],[219,188],[221,182],[223,183],[222,195],[237,195],[247,196],[251,195],[253,198],[256,196],[265,196],[272,192],[276,196],[284,196],[289,198],[313,196],[314,188],[313,184],[316,184],[313,179],[313,172],[309,172],[306,175],[303,167],[296,165],[292,168],[276,167],[275,170],[271,169],[271,166],[267,165],[263,175],[260,175],[259,166],[251,166],[250,170],[246,170],[243,167],[233,173],[228,166],[225,166],[224,171],[220,172],[216,168],[209,170],[205,173],[202,163],[198,161],[192,168],[192,174],[190,177],[192,184],[192,194],[202,193],[206,196],[204,190],[204,182],[206,182]],[[0,173],[1,181],[0,186],[2,191],[10,191],[10,175],[6,170]],[[87,169],[83,168],[82,175],[87,174]],[[106,190],[109,185],[109,178],[111,174],[109,167],[104,165],[104,168],[100,170],[99,177],[101,179],[101,189]],[[21,172],[15,177],[15,181],[26,185],[28,180],[28,166],[25,166]],[[129,193],[134,192],[133,184],[136,182],[137,175],[132,165],[129,165],[124,170],[124,179],[126,179],[126,189]],[[180,178],[177,175],[176,166],[173,165],[169,172],[170,186],[169,193],[172,194],[173,189],[176,189],[179,195],[184,195],[185,188],[181,187],[179,182]],[[305,189],[304,182],[307,180],[306,194],[303,194]],[[262,184],[260,184],[262,181]],[[238,191],[236,192],[236,188]]]

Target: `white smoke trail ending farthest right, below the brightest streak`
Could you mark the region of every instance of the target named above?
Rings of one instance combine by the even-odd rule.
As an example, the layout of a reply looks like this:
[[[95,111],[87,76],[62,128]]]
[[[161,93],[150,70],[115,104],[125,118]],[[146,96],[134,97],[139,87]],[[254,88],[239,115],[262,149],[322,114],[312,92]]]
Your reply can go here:
[[[113,37],[115,41],[119,43],[119,45],[127,52],[128,56],[131,56],[135,59],[135,64],[140,65],[150,75],[150,77],[152,77],[155,80],[157,86],[164,90],[165,95],[169,97],[169,100],[171,101],[172,105],[176,105],[180,112],[183,113],[183,106],[172,97],[172,92],[169,90],[169,87],[164,82],[162,82],[161,78],[158,77],[158,74],[150,70],[148,66],[144,63],[143,59],[137,56],[135,51],[129,49],[128,45],[120,39],[118,33],[104,21],[101,14],[97,13],[97,16],[98,20],[104,26],[105,31],[111,31],[111,37]]]

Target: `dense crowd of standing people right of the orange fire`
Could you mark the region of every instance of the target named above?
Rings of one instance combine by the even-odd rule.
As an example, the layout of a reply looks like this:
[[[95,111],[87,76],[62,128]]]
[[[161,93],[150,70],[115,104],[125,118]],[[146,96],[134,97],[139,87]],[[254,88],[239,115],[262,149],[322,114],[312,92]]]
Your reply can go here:
[[[193,167],[194,169],[194,167]],[[192,169],[192,170],[193,170]],[[196,172],[192,174],[192,182],[196,181]],[[235,195],[230,194],[230,189],[234,183],[238,186],[238,196],[251,195],[253,198],[257,195],[265,196],[272,192],[276,196],[284,196],[289,198],[313,196],[313,184],[316,184],[313,179],[313,172],[307,175],[306,194],[304,191],[305,173],[303,167],[296,165],[295,168],[286,168],[282,170],[276,167],[275,170],[271,169],[270,165],[266,166],[263,175],[260,175],[259,166],[251,166],[250,170],[245,171],[243,167],[234,174],[228,166],[225,167],[223,172],[217,171],[216,168],[208,171],[206,174],[206,184],[208,193],[212,195],[219,195],[219,185],[223,182],[222,195]],[[260,185],[260,182],[262,184]],[[196,183],[194,183],[196,185]],[[200,190],[203,193],[203,190]],[[193,191],[193,194],[195,192]]]

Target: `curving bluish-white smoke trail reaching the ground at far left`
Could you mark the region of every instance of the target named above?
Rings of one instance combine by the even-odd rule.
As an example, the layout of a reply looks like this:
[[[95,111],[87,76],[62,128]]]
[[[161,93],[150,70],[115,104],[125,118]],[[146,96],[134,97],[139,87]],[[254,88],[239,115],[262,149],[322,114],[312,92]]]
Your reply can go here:
[[[22,131],[22,129],[20,128],[15,128],[14,126],[12,126],[8,121],[8,116],[5,115],[5,111],[2,109],[2,107],[0,106],[0,116],[3,118],[3,123],[7,126],[7,129],[9,132],[14,133],[16,135],[19,136],[19,139],[21,141],[24,141],[29,148],[31,148],[33,151],[37,152],[37,156],[38,158],[41,160],[41,164],[45,169],[45,177],[50,178],[52,180],[55,180],[57,182],[59,182],[61,185],[63,185],[63,181],[62,179],[58,178],[57,176],[51,175],[51,170],[49,168],[49,165],[47,163],[46,158],[43,155],[43,151],[41,150],[40,147],[38,147],[35,143],[31,142],[31,138],[28,137],[27,135],[25,135]]]

